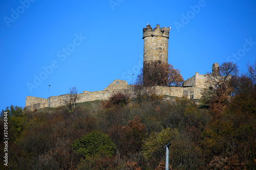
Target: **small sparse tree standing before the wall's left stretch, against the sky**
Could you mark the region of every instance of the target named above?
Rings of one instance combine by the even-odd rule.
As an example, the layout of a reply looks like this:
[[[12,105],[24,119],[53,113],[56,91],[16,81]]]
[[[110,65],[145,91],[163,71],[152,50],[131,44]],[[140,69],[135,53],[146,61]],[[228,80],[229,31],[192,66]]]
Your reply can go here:
[[[72,87],[63,102],[68,107],[69,111],[72,112],[77,100],[79,100],[77,89],[76,87]]]

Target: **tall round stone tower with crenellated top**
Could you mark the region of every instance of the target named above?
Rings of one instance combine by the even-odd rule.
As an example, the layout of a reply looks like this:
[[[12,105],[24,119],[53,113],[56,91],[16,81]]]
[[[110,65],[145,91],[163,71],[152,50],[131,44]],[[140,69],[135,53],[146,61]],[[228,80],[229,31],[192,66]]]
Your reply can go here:
[[[168,63],[169,31],[169,28],[160,28],[159,25],[154,30],[150,25],[143,28],[143,65],[152,62]]]

